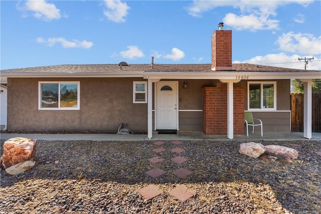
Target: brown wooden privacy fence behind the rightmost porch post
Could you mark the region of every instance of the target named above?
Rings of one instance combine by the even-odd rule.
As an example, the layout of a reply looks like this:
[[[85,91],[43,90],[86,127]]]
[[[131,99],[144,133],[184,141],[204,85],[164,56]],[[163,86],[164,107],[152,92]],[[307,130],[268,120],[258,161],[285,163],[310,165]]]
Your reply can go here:
[[[291,94],[291,131],[303,132],[303,94]],[[312,132],[321,132],[321,93],[312,94]]]

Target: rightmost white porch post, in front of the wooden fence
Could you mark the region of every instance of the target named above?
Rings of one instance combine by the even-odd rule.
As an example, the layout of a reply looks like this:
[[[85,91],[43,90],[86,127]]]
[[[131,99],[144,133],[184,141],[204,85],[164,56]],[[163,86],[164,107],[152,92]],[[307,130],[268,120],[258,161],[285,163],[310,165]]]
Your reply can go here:
[[[303,106],[303,137],[312,137],[312,80],[301,80],[304,82],[304,106]]]

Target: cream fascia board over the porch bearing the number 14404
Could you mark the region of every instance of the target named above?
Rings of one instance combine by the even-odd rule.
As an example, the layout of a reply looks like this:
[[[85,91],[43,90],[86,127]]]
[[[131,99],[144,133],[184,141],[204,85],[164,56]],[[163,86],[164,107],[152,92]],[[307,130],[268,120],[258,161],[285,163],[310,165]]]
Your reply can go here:
[[[213,73],[144,73],[144,79],[319,79],[320,72],[213,72]]]

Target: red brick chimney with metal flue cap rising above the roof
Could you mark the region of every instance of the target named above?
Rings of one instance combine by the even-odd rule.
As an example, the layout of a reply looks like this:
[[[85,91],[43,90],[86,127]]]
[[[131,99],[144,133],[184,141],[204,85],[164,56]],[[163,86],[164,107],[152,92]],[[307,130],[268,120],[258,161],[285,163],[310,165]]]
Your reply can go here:
[[[232,31],[222,29],[212,35],[212,71],[232,70]]]

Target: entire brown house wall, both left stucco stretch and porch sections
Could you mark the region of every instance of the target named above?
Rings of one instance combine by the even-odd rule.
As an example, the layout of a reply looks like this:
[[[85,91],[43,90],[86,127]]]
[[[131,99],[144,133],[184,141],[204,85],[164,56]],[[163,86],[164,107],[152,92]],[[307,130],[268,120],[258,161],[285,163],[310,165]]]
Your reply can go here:
[[[38,110],[39,81],[80,81],[80,110]],[[147,104],[133,103],[133,81],[142,78],[9,78],[9,130],[114,130],[120,123],[133,131],[147,130]],[[218,80],[164,80],[179,82],[179,129],[202,130],[202,88]],[[247,110],[247,82],[234,84],[244,87]],[[154,93],[152,92],[152,95]],[[153,107],[154,109],[154,107]],[[290,110],[290,80],[277,80],[277,110]],[[267,115],[264,113],[264,115]],[[154,115],[153,115],[154,116]],[[258,115],[260,116],[260,115]],[[280,121],[282,125],[275,126]],[[264,118],[265,131],[289,130],[289,114],[269,114]],[[275,127],[278,127],[275,130]]]

